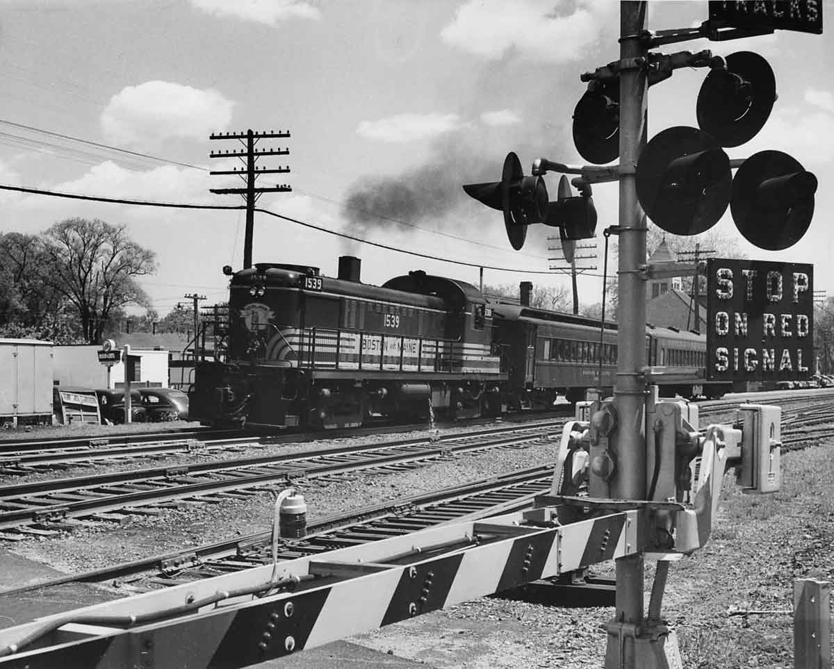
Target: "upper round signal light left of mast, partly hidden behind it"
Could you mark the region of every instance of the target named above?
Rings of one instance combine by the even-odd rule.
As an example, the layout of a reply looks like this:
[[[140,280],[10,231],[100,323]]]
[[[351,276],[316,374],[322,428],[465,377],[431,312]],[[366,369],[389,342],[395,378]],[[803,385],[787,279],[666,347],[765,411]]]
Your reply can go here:
[[[592,86],[574,109],[574,145],[582,158],[601,165],[620,155],[620,81]]]

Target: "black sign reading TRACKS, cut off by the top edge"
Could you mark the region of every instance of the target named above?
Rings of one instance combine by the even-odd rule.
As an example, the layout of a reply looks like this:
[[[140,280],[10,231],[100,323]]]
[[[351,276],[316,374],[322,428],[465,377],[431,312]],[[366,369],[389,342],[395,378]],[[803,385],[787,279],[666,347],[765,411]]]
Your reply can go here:
[[[710,20],[736,28],[822,34],[823,0],[710,0]]]

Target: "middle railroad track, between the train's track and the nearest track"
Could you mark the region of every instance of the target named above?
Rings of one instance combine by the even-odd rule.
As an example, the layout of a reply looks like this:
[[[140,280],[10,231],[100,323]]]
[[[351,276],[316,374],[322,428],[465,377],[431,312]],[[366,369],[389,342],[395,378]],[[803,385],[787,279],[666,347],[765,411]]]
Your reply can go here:
[[[295,455],[264,455],[198,465],[157,467],[0,487],[0,539],[53,536],[124,514],[161,515],[193,503],[243,499],[293,481],[332,482],[352,472],[391,473],[431,461],[491,449],[521,449],[543,441],[555,425],[502,427],[439,440],[339,446]],[[309,485],[309,484],[305,484]]]

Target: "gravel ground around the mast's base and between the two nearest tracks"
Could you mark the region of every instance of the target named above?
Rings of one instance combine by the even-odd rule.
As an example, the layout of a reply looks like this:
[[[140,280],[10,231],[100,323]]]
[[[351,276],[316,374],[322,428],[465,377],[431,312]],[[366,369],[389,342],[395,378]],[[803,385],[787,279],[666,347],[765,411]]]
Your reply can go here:
[[[540,465],[555,441],[525,450],[498,450],[389,475],[355,475],[304,490],[310,517],[327,516],[464,480]],[[727,475],[719,518],[705,549],[671,567],[664,615],[676,629],[687,669],[792,667],[792,581],[834,571],[834,458],[831,445],[782,458],[776,495],[742,495]],[[61,571],[83,571],[183,546],[263,531],[269,495],[126,516],[73,534],[8,546]],[[610,571],[610,565],[600,566]],[[653,567],[646,567],[646,599]],[[729,616],[734,609],[777,611]],[[610,608],[559,609],[485,598],[369,632],[354,641],[440,669],[530,669],[602,666]]]

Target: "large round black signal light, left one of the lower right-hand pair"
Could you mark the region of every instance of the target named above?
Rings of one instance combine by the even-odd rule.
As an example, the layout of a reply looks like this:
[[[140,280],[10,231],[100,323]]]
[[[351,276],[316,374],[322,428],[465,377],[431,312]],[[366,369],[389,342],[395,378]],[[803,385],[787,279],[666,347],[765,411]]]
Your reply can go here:
[[[658,133],[637,162],[637,198],[671,234],[701,234],[730,204],[730,158],[711,135],[677,126]]]

